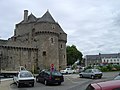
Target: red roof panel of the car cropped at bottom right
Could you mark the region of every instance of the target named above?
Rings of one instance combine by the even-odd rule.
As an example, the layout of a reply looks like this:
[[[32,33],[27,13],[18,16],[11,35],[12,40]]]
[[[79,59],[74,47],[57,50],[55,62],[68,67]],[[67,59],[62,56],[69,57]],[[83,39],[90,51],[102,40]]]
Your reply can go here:
[[[102,88],[102,90],[106,89],[113,89],[113,88],[120,88],[120,80],[112,80],[112,81],[105,81],[105,82],[98,82],[91,84],[95,89],[98,89],[98,86]]]

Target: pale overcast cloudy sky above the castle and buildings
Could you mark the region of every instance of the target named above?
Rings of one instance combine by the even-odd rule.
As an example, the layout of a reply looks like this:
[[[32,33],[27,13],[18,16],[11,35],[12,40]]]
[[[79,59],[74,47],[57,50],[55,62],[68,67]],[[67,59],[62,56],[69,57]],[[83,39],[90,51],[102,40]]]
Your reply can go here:
[[[0,0],[0,39],[14,35],[24,10],[47,10],[83,55],[120,53],[120,0]]]

